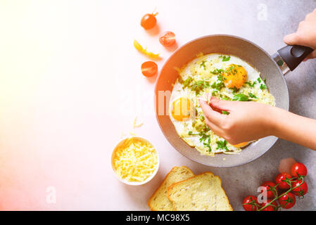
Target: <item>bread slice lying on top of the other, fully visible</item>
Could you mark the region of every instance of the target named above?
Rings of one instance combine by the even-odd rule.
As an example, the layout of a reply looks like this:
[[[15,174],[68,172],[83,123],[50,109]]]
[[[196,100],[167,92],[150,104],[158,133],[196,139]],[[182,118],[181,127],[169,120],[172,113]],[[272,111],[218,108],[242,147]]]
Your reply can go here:
[[[179,181],[168,188],[168,198],[177,211],[232,211],[220,177],[211,172]]]

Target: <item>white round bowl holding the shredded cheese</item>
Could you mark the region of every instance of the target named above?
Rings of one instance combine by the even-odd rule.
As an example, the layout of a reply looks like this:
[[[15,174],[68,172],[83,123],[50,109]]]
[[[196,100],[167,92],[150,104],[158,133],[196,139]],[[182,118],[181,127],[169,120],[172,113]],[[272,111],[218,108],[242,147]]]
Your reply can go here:
[[[141,181],[141,182],[126,181],[125,179],[120,178],[120,176],[118,176],[118,174],[116,173],[116,170],[115,170],[115,167],[114,167],[114,164],[113,164],[113,159],[115,157],[116,150],[118,150],[118,148],[122,145],[122,143],[124,143],[124,141],[126,141],[127,139],[130,139],[130,138],[137,139],[137,140],[140,140],[140,141],[146,141],[146,142],[150,143],[153,146],[153,144],[150,141],[148,141],[147,139],[144,139],[141,136],[130,136],[130,137],[126,138],[126,139],[120,140],[116,144],[116,146],[115,146],[115,148],[113,150],[113,153],[112,153],[112,157],[111,157],[111,165],[112,165],[113,172],[115,173],[116,177],[118,177],[118,179],[120,181],[122,181],[124,184],[132,185],[132,186],[138,186],[138,185],[146,184],[148,181],[151,181],[151,179],[153,179],[153,177],[157,174],[158,169],[159,169],[159,155],[158,155],[158,152],[157,152],[157,149],[155,148],[155,146],[153,146],[153,148],[155,149],[156,155],[157,155],[157,166],[156,166],[156,169],[151,174],[151,176],[148,176],[148,178],[145,181]]]

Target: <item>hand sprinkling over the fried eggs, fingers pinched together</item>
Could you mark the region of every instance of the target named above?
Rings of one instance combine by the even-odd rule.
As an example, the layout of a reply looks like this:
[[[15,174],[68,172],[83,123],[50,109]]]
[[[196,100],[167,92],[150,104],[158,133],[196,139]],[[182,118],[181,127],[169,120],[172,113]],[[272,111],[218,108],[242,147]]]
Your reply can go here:
[[[208,127],[231,144],[261,139],[272,135],[270,120],[274,107],[255,102],[224,101],[210,98],[210,104],[198,100]],[[219,112],[227,111],[229,115]]]

